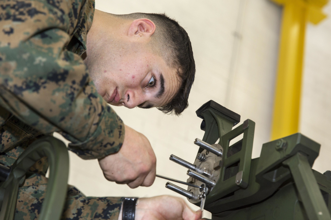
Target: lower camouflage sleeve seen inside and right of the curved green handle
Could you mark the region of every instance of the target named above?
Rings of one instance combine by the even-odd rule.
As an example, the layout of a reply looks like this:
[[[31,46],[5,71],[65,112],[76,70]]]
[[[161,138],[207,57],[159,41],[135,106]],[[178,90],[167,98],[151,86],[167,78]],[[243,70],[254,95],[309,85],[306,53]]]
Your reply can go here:
[[[19,188],[15,219],[37,219],[46,190],[45,176],[35,174],[26,179],[24,186]],[[75,187],[69,186],[62,219],[118,219],[122,200],[120,197],[85,197]]]

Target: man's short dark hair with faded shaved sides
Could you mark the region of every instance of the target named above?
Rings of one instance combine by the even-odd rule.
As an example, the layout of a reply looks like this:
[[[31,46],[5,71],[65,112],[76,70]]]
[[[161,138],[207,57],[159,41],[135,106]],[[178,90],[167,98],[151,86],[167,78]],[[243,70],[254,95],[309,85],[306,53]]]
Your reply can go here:
[[[163,57],[168,66],[176,68],[181,86],[173,99],[165,106],[158,107],[166,114],[180,115],[188,107],[188,96],[195,77],[195,62],[190,38],[177,21],[166,14],[133,13],[114,15],[123,19],[147,18],[156,25],[152,35],[153,48]]]

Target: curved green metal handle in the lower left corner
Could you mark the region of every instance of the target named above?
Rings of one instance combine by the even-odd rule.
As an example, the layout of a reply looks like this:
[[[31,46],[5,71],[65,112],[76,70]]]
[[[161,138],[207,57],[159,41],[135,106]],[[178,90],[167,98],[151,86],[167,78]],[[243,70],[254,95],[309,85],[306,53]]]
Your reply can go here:
[[[59,220],[67,195],[69,155],[66,145],[52,136],[34,141],[11,166],[6,180],[0,183],[0,219],[13,220],[18,189],[24,183],[25,173],[42,157],[47,157],[50,177],[42,203],[39,220]]]

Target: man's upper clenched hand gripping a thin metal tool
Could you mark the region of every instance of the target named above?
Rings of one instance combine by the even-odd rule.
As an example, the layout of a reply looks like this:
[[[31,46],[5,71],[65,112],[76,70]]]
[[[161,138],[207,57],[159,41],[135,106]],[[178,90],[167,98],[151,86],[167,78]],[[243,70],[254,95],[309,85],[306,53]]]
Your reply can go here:
[[[151,144],[143,134],[124,126],[121,149],[99,159],[100,167],[109,181],[127,184],[130,188],[150,186],[156,175],[156,157]]]

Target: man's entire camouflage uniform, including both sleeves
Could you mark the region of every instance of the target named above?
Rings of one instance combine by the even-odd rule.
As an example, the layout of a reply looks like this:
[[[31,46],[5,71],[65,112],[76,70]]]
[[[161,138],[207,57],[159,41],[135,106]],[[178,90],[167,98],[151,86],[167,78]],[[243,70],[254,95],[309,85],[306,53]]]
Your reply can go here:
[[[124,124],[97,93],[81,59],[93,0],[0,1],[0,162],[12,165],[37,138],[60,132],[83,159],[116,153]],[[15,219],[36,219],[47,159],[30,168]],[[69,186],[63,219],[117,219],[121,198],[85,197]]]

